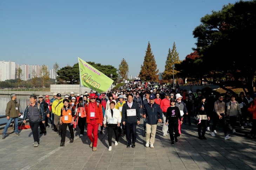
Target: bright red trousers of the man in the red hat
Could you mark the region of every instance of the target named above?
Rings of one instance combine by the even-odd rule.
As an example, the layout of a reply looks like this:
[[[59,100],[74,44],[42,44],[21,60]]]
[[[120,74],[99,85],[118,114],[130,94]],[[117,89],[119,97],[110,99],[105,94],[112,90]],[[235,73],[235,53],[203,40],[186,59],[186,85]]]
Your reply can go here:
[[[93,142],[93,147],[97,147],[98,129],[99,124],[97,124],[97,120],[91,120],[90,123],[87,124],[87,136],[91,142]]]

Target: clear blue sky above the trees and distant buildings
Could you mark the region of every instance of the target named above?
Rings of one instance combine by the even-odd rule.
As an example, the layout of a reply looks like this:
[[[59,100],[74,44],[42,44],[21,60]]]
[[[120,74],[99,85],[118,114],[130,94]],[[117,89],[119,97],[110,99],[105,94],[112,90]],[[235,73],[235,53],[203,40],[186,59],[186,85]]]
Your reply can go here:
[[[129,75],[143,64],[148,42],[164,71],[169,48],[180,59],[193,52],[192,31],[212,10],[235,0],[1,0],[0,60],[16,64],[73,66],[78,57]]]

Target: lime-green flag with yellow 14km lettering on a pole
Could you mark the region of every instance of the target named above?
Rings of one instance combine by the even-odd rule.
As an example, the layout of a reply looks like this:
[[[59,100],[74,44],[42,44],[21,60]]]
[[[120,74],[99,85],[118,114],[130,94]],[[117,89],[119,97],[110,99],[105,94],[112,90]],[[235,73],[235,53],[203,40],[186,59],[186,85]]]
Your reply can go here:
[[[105,92],[113,83],[113,80],[89,65],[87,62],[78,58],[80,69],[81,86],[88,87],[99,93]]]

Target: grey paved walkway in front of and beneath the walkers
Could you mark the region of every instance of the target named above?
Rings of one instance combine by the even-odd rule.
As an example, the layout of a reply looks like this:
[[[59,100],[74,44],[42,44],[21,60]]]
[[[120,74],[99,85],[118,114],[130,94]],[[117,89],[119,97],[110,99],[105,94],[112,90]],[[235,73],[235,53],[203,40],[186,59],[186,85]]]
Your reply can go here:
[[[143,123],[141,121],[141,123]],[[211,127],[211,126],[210,126]],[[162,125],[157,126],[155,148],[146,148],[142,124],[137,126],[136,148],[126,148],[125,137],[118,146],[107,147],[107,129],[99,134],[97,151],[89,147],[86,135],[79,138],[75,132],[74,143],[60,146],[60,137],[51,128],[47,134],[40,134],[39,147],[33,147],[31,129],[22,130],[20,136],[14,133],[0,139],[0,169],[74,169],[74,170],[183,170],[183,169],[256,169],[256,142],[249,139],[249,128],[237,128],[230,140],[224,140],[221,125],[216,137],[206,134],[207,140],[199,140],[197,126],[182,125],[182,135],[175,146],[170,145],[170,136],[162,136]],[[100,132],[100,131],[99,131]],[[228,130],[228,133],[232,133]],[[246,135],[244,135],[244,133]],[[114,136],[113,136],[114,137]]]

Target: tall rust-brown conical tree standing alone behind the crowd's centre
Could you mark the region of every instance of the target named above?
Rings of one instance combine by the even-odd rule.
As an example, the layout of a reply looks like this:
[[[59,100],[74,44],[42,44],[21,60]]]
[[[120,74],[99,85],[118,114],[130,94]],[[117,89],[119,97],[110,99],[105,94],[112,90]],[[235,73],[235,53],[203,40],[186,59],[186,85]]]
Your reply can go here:
[[[144,57],[143,65],[141,65],[140,79],[144,81],[157,81],[158,79],[158,69],[156,70],[155,57],[152,54],[150,43],[148,42],[148,47],[146,55]]]

